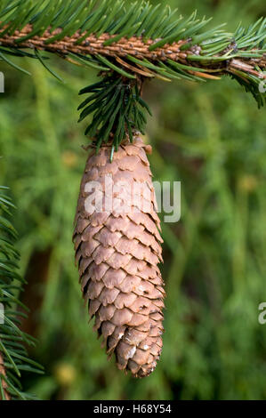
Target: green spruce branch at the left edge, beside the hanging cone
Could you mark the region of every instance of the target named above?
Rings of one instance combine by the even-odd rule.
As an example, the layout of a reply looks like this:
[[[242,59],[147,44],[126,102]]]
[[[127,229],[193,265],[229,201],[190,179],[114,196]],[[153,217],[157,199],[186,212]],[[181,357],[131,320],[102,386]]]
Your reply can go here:
[[[0,186],[0,303],[4,318],[0,321],[0,400],[30,399],[20,383],[20,372],[43,373],[42,367],[28,357],[26,345],[35,345],[35,339],[20,330],[20,317],[28,310],[19,300],[24,280],[18,274],[20,255],[14,247],[17,232],[9,221],[12,205]],[[2,313],[2,311],[1,311]],[[4,320],[3,320],[4,319]]]

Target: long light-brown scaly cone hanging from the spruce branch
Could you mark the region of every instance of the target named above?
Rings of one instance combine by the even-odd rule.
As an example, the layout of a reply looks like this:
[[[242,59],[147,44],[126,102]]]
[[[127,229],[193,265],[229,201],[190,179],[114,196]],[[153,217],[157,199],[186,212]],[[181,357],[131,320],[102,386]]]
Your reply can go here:
[[[120,145],[112,163],[109,146],[98,155],[93,150],[81,181],[73,236],[82,291],[95,317],[93,329],[103,336],[109,357],[115,353],[117,367],[135,377],[155,368],[164,330],[165,292],[157,267],[162,238],[145,150],[149,146],[140,137]],[[97,190],[92,194],[93,185]],[[141,198],[135,185],[142,186]],[[97,209],[88,207],[89,200]]]

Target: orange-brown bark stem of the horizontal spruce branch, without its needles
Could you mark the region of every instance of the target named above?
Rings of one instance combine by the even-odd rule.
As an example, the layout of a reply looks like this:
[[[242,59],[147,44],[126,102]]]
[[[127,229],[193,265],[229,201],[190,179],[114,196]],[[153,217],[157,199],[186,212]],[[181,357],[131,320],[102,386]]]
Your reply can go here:
[[[5,28],[6,26],[0,29],[0,35]],[[139,60],[148,59],[155,61],[155,63],[158,61],[166,61],[171,59],[189,66],[191,65],[191,60],[188,60],[188,56],[199,55],[201,52],[200,46],[197,45],[191,46],[186,51],[181,51],[181,45],[188,44],[190,41],[189,39],[184,39],[173,44],[165,44],[163,47],[157,48],[152,52],[149,51],[149,46],[157,41],[149,39],[148,41],[144,42],[141,36],[133,36],[129,39],[122,37],[119,41],[105,46],[105,41],[108,41],[115,35],[91,35],[87,36],[80,44],[77,44],[78,39],[80,39],[82,36],[85,36],[84,33],[82,34],[79,31],[77,31],[73,36],[65,36],[60,41],[54,41],[49,44],[49,39],[51,39],[52,36],[58,35],[62,30],[60,28],[57,28],[52,32],[47,29],[44,31],[43,36],[32,36],[25,41],[20,43],[17,42],[22,36],[28,36],[32,30],[32,26],[28,24],[21,30],[16,30],[13,35],[7,34],[3,37],[0,37],[0,44],[2,44],[2,46],[7,46],[14,49],[31,48],[53,52],[59,54],[63,58],[66,58],[69,52],[79,53],[81,55],[89,54],[94,56],[100,54],[115,58],[120,65],[124,65],[126,68],[129,68],[128,63],[125,63],[123,60],[121,60],[121,58],[125,58],[127,55],[132,55]],[[198,68],[206,68],[208,73],[215,72],[216,75],[234,73],[235,69],[241,69],[241,71],[244,71],[248,74],[266,79],[266,75],[257,70],[257,68],[261,68],[261,70],[266,68],[266,54],[264,54],[262,58],[259,59],[230,58],[229,60],[223,60],[220,62],[203,61],[200,63],[197,61],[196,64],[193,63],[193,66],[197,66]],[[136,70],[136,72],[138,71]],[[204,73],[197,74],[197,76],[208,78],[212,77],[207,76]]]

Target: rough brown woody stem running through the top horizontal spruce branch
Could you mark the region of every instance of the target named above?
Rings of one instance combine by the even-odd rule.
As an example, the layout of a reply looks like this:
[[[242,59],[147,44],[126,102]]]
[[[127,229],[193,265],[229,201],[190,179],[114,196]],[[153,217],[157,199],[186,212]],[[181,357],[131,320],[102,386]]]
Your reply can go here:
[[[7,27],[0,30],[0,36]],[[232,42],[230,48],[235,50],[233,54],[229,54],[229,47],[225,48],[219,55],[214,55],[213,60],[199,60],[203,49],[200,45],[194,44],[187,50],[183,50],[182,46],[189,45],[190,38],[181,39],[173,44],[164,44],[161,47],[150,50],[150,47],[156,44],[152,39],[148,39],[146,42],[143,41],[141,36],[132,36],[126,38],[125,36],[120,38],[117,42],[112,42],[116,35],[109,35],[108,33],[102,34],[101,36],[87,36],[78,44],[80,38],[85,34],[76,32],[73,36],[65,36],[60,41],[54,41],[50,44],[50,40],[61,33],[62,29],[58,28],[54,31],[49,29],[45,30],[43,36],[33,36],[27,40],[20,42],[20,39],[24,36],[28,36],[33,32],[31,25],[27,25],[22,30],[16,30],[12,36],[3,36],[1,40],[2,46],[6,46],[12,49],[19,48],[30,48],[41,51],[54,52],[63,58],[66,58],[69,53],[78,55],[91,55],[97,58],[99,55],[113,57],[117,62],[125,68],[131,70],[134,74],[141,74],[142,76],[156,76],[151,75],[149,71],[145,71],[145,68],[137,68],[133,64],[129,64],[119,58],[129,59],[129,56],[133,56],[138,60],[149,60],[150,62],[162,61],[167,62],[173,60],[175,62],[181,62],[183,65],[188,67],[189,74],[195,74],[204,78],[219,79],[218,76],[226,75],[234,72],[234,69],[242,70],[244,73],[257,76],[259,78],[266,79],[266,74],[262,74],[262,70],[266,68],[266,53],[258,53],[256,56],[255,49],[250,53],[249,58],[242,58],[243,53],[246,49],[237,50],[238,45]],[[191,62],[193,65],[197,65],[196,68],[189,69]],[[256,68],[260,68],[256,69]],[[106,68],[108,69],[108,68]],[[184,68],[186,69],[186,68]],[[200,69],[204,69],[206,72],[200,72]],[[210,73],[216,73],[216,76],[209,76]]]

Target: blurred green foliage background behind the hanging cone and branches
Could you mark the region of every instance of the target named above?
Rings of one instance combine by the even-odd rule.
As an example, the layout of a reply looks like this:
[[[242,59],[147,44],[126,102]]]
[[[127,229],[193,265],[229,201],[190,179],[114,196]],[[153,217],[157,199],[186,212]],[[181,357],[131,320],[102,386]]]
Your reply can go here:
[[[154,2],[155,4],[158,2]],[[163,3],[163,2],[161,2]],[[265,0],[165,1],[197,8],[234,30],[266,15]],[[202,84],[147,83],[147,141],[154,179],[181,181],[181,221],[163,225],[164,350],[143,380],[107,361],[88,325],[71,235],[86,154],[77,92],[96,72],[52,59],[60,84],[39,62],[6,67],[0,97],[0,180],[17,206],[23,329],[44,376],[24,374],[42,399],[265,399],[266,119],[230,78]]]

